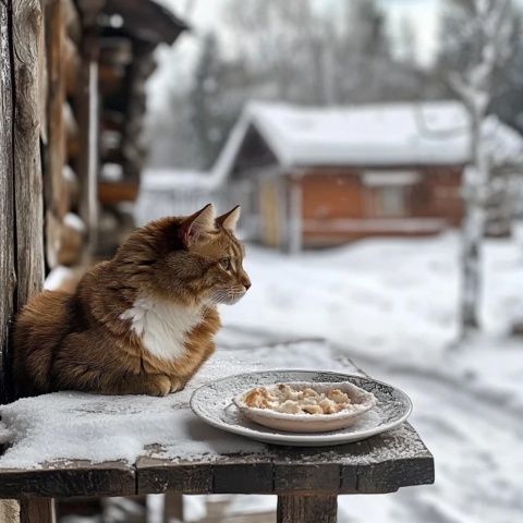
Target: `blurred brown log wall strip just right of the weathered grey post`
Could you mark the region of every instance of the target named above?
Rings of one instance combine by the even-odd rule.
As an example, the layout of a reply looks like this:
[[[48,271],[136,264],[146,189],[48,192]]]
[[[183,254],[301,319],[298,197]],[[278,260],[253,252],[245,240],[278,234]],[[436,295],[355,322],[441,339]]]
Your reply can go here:
[[[85,214],[90,159],[84,149],[88,130],[80,122],[84,101],[93,96],[82,84],[83,24],[72,0],[46,0],[45,51],[48,141],[42,148],[46,268],[85,263],[89,230]]]

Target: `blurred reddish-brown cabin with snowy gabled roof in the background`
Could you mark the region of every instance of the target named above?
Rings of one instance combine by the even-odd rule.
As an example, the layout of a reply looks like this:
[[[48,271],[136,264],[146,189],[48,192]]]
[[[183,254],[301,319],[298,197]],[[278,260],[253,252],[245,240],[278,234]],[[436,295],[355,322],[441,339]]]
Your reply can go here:
[[[513,131],[499,124],[496,133]],[[306,108],[250,104],[215,175],[245,194],[251,239],[299,251],[460,224],[469,119],[454,101]],[[515,138],[521,145],[521,137]]]

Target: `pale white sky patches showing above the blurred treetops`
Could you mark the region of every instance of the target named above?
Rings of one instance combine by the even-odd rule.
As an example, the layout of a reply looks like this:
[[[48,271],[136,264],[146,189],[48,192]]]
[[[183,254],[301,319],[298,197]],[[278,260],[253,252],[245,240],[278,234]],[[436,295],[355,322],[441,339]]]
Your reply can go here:
[[[217,29],[223,5],[228,0],[159,0],[179,16],[190,22],[194,32],[182,35],[173,49],[160,49],[160,66],[149,82],[150,104],[161,106],[168,85],[188,82],[191,68],[197,52],[196,33]],[[259,0],[263,1],[263,0]],[[337,0],[321,0],[321,7]],[[415,34],[415,57],[429,64],[435,57],[439,31],[439,9],[442,0],[378,0],[387,14],[390,34],[401,31],[403,20],[411,22]],[[226,42],[227,46],[227,42]],[[227,49],[226,49],[227,50]]]

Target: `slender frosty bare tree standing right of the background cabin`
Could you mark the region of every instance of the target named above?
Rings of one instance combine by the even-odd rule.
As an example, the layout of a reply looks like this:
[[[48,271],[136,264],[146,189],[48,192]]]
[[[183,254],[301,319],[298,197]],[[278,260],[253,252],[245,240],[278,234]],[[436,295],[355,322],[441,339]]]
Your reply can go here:
[[[463,180],[465,217],[462,227],[461,337],[478,328],[481,246],[490,185],[490,156],[482,139],[492,98],[496,71],[510,54],[510,0],[449,0],[442,65],[449,87],[470,117],[471,165]]]

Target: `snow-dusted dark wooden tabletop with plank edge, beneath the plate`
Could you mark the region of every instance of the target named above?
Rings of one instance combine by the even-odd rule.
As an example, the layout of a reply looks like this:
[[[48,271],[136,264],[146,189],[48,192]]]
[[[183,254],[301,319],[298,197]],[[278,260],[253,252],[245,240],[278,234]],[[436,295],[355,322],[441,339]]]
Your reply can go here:
[[[309,341],[218,351],[184,391],[166,398],[60,392],[2,406],[11,447],[0,458],[0,498],[276,494],[292,512],[291,498],[306,503],[306,491],[336,513],[340,494],[434,482],[433,457],[408,423],[354,443],[292,448],[220,431],[190,411],[191,392],[203,384],[281,367],[357,373]]]

